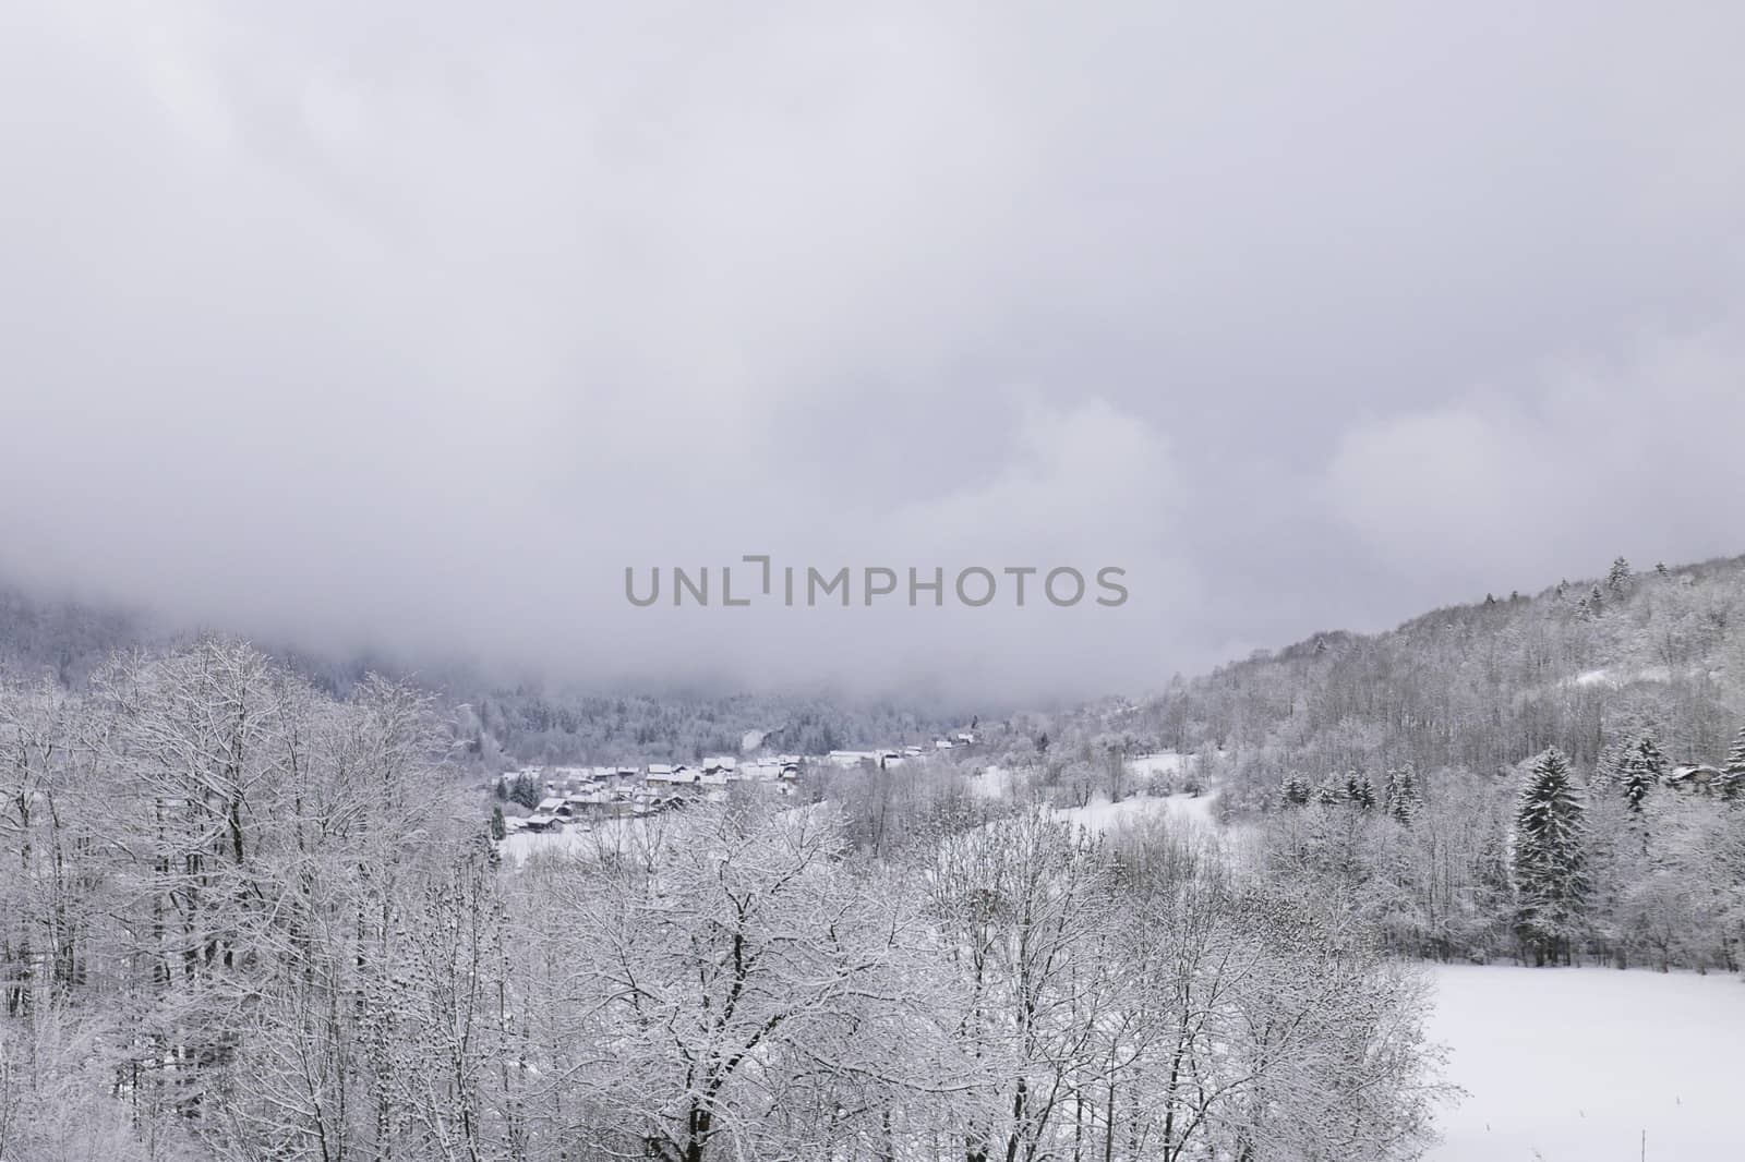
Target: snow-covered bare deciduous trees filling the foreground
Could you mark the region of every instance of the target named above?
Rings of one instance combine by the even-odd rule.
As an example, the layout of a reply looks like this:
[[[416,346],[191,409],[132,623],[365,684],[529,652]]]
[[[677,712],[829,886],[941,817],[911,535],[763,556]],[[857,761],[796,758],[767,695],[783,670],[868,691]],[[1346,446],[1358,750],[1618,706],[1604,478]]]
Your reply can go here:
[[[745,792],[508,865],[450,803],[457,745],[405,686],[339,701],[218,640],[0,687],[0,1157],[1331,1162],[1424,1138],[1410,974],[1347,900],[1235,879],[1204,839],[911,783],[879,844],[874,789],[852,818]]]

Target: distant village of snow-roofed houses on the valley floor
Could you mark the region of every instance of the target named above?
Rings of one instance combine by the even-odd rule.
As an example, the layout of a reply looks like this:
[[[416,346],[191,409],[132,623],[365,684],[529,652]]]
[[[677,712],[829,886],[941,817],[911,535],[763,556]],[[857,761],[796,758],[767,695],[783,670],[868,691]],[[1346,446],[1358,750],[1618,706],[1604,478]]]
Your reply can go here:
[[[722,803],[736,785],[773,787],[796,794],[808,771],[897,769],[928,752],[963,752],[975,747],[974,731],[935,738],[930,747],[902,745],[872,750],[831,750],[822,755],[708,755],[696,762],[614,766],[524,766],[492,782],[503,804],[520,803],[525,817],[504,815],[506,836],[586,827],[599,820],[637,818],[691,803]],[[537,796],[536,801],[534,796]]]

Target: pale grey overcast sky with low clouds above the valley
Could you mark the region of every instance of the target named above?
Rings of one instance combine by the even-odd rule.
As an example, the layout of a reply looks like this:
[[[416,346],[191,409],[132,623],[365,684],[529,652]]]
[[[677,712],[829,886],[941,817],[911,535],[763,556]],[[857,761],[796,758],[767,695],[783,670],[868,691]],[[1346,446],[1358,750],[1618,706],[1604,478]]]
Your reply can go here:
[[[1745,5],[1520,9],[14,0],[0,572],[1040,698],[1745,551]]]

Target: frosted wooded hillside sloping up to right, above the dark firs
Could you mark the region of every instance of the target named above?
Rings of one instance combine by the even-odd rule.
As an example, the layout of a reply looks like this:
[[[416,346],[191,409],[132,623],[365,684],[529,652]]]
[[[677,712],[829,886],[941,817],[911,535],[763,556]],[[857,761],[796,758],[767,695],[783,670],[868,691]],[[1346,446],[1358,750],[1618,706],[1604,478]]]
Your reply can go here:
[[[1237,754],[1227,794],[1260,810],[1291,776],[1495,775],[1558,747],[1591,769],[1653,731],[1673,762],[1721,762],[1745,722],[1745,558],[1635,572],[1537,597],[1488,595],[1375,637],[1321,633],[1124,708],[1176,750]]]

